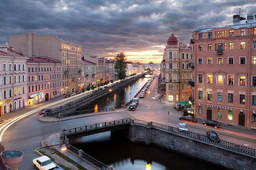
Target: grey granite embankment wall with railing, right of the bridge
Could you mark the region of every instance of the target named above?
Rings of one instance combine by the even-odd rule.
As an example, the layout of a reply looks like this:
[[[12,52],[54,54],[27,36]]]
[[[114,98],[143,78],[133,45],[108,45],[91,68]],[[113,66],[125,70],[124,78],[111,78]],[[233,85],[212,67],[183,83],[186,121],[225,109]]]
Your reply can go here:
[[[208,141],[204,135],[189,132],[183,134],[176,128],[166,125],[131,120],[128,138],[131,142],[170,149],[193,158],[214,163],[234,170],[255,170],[255,149],[239,146],[234,143]]]

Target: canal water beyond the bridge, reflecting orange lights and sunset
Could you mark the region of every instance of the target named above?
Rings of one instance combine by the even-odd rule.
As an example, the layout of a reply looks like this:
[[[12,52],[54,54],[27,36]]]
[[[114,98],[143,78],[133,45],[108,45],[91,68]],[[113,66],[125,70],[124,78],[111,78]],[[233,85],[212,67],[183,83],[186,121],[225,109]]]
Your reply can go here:
[[[90,106],[84,109],[96,109],[96,108],[106,108],[112,106],[119,106],[121,104],[126,104],[132,99],[137,92],[144,86],[144,84],[149,80],[149,78],[140,78],[133,84],[123,87],[117,91],[112,92],[112,94],[102,98],[101,100],[92,103]],[[131,94],[130,94],[131,93]]]

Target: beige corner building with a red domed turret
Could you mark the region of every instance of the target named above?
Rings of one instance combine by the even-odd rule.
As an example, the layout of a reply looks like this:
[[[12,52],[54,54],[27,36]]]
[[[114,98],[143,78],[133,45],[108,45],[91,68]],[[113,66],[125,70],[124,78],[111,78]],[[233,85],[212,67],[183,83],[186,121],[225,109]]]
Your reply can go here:
[[[172,34],[164,49],[162,64],[162,79],[165,82],[165,96],[168,102],[187,101],[191,96],[191,62],[192,49],[188,44],[178,43]]]

